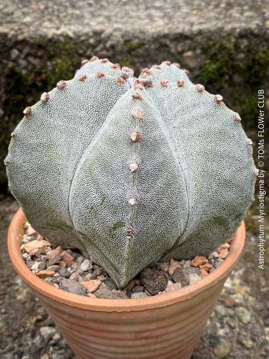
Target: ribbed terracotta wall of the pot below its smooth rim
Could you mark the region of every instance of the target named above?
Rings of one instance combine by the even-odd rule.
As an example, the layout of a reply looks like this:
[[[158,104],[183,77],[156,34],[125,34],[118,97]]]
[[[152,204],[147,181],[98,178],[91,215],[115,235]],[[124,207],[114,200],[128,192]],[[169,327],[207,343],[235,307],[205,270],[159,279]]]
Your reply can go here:
[[[189,358],[222,289],[162,308],[124,312],[70,310],[39,296],[78,358]],[[37,293],[36,293],[37,294]]]

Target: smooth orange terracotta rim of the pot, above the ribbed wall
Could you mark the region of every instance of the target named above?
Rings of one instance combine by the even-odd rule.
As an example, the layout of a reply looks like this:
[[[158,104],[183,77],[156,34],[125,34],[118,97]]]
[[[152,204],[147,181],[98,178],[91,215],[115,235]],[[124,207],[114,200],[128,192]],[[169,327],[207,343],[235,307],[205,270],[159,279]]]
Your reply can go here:
[[[23,222],[25,221],[25,215],[20,208],[14,215],[8,231],[9,255],[16,272],[20,275],[20,277],[22,277],[24,282],[26,282],[28,286],[33,288],[35,291],[53,298],[59,303],[66,304],[71,307],[107,312],[129,312],[152,309],[172,305],[176,302],[181,302],[192,298],[199,292],[212,287],[215,283],[222,280],[222,278],[224,278],[227,273],[232,271],[233,267],[239,260],[245,239],[245,225],[242,221],[240,227],[237,229],[237,232],[234,235],[234,241],[232,242],[229,255],[225,258],[225,261],[213,273],[210,273],[208,276],[201,278],[200,281],[195,282],[187,287],[183,287],[182,289],[175,290],[171,293],[155,295],[148,298],[101,299],[73,294],[55,288],[32,273],[32,271],[24,263],[22,253],[20,252],[20,242],[22,241],[23,234]]]

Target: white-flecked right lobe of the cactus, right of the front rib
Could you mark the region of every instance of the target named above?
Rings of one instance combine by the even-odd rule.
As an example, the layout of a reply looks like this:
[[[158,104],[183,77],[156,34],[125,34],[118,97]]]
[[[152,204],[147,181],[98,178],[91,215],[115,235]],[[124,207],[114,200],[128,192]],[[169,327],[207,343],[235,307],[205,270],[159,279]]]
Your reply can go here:
[[[147,93],[163,119],[188,193],[188,223],[162,260],[206,255],[216,241],[233,236],[253,197],[255,166],[247,137],[233,111],[216,106],[205,90],[169,84],[165,92],[156,85]]]

